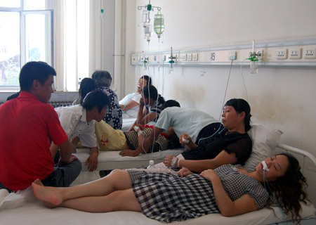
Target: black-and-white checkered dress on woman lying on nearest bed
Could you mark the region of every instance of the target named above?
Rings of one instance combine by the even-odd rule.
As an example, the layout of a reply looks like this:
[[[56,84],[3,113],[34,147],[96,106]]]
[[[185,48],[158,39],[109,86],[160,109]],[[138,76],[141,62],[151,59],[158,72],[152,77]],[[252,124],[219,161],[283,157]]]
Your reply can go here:
[[[232,200],[249,194],[259,209],[267,204],[265,188],[255,179],[238,172],[235,166],[224,165],[215,171]],[[220,212],[211,182],[199,174],[184,178],[133,170],[129,170],[129,174],[133,192],[146,217],[169,223]]]

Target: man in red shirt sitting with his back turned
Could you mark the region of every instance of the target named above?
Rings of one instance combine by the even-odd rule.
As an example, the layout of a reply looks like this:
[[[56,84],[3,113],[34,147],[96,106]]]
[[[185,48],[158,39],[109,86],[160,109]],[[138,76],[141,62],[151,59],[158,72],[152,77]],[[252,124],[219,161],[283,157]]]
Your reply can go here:
[[[81,171],[68,136],[53,106],[55,70],[44,62],[29,62],[20,72],[20,95],[0,106],[0,188],[23,190],[39,178],[45,186],[70,186]],[[54,166],[51,141],[60,148]]]

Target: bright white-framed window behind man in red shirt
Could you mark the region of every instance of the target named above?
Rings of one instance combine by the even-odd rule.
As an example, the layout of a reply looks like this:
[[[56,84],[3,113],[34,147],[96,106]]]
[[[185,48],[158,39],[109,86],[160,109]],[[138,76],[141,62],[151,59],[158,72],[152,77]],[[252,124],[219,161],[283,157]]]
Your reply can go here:
[[[18,89],[20,68],[29,61],[53,65],[53,12],[40,9],[43,0],[0,0],[1,89]]]

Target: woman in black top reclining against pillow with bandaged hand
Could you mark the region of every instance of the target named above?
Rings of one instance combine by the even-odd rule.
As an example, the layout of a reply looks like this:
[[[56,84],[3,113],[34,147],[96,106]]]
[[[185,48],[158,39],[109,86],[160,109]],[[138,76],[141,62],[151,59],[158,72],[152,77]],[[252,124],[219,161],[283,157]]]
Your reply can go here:
[[[187,151],[164,158],[166,167],[186,167],[195,172],[215,169],[225,164],[244,165],[252,148],[246,131],[250,127],[250,106],[241,98],[232,98],[223,108],[222,122],[208,126],[209,136],[195,144],[187,134],[179,136]],[[184,139],[184,141],[183,141]]]

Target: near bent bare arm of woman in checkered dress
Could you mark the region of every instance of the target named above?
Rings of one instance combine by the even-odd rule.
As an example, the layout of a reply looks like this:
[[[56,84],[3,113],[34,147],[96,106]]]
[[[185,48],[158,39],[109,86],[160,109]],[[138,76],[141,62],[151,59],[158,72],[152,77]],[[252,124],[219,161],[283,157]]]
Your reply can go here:
[[[224,217],[237,216],[246,212],[258,210],[256,201],[248,194],[242,195],[242,197],[232,201],[223,188],[223,184],[218,175],[213,171],[213,169],[203,171],[201,176],[211,181],[216,205]]]

